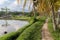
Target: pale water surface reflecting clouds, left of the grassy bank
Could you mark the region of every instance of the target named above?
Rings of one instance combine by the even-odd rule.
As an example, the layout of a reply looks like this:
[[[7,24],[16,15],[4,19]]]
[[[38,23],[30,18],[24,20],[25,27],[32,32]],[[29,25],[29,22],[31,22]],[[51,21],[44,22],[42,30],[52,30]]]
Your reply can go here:
[[[2,26],[3,24],[5,24],[5,20],[0,20],[0,36],[5,33],[15,32],[19,28],[28,24],[27,21],[20,20],[7,20],[7,23],[9,24],[7,27]]]

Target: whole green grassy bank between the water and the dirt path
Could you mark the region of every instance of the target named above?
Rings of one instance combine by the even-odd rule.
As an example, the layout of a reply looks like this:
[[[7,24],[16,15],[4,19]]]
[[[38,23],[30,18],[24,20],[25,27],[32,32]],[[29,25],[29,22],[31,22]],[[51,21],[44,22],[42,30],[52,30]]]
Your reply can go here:
[[[41,40],[41,28],[45,22],[45,18],[40,18],[39,21],[31,23],[17,32],[12,32],[0,37],[0,40]]]

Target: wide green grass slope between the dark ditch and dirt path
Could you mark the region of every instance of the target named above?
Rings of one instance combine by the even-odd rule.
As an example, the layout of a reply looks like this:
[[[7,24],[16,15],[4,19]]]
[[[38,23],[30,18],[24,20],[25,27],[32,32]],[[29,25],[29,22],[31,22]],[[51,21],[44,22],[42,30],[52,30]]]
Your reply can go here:
[[[16,40],[41,40],[41,28],[44,22],[36,22],[28,27]]]

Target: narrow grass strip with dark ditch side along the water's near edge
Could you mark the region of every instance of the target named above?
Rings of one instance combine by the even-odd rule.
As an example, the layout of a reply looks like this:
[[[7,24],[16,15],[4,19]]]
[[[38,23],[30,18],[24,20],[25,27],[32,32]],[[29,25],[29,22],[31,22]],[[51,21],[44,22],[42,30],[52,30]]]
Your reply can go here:
[[[19,29],[17,32],[12,32],[12,33],[9,33],[9,34],[6,34],[6,35],[0,37],[0,40],[14,40],[14,39],[16,39],[26,28],[28,28],[30,25],[32,25],[33,22],[34,22],[34,20],[32,20],[29,25],[26,25],[25,27]]]

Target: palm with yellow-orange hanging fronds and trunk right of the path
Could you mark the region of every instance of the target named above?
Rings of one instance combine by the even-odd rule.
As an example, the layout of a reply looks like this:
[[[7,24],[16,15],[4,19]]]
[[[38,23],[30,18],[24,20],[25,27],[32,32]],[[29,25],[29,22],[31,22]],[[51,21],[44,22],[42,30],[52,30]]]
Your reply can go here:
[[[38,11],[40,13],[44,11],[47,11],[47,12],[52,11],[54,30],[57,30],[58,27],[57,27],[56,20],[55,20],[55,3],[59,0],[38,0],[38,1],[40,1],[40,3],[38,4]]]

